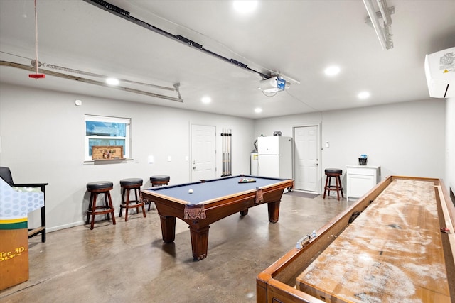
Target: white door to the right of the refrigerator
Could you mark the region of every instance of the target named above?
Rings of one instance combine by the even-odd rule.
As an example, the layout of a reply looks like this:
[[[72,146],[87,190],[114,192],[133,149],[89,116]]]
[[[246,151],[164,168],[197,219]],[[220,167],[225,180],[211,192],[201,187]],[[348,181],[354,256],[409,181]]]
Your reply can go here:
[[[294,188],[319,192],[319,126],[294,128]]]

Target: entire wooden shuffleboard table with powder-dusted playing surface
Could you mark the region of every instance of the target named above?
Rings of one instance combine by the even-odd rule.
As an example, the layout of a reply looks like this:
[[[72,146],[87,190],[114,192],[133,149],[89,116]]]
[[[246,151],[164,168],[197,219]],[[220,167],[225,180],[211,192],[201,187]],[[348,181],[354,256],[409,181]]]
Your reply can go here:
[[[455,302],[454,226],[441,180],[387,177],[259,273],[257,302]]]

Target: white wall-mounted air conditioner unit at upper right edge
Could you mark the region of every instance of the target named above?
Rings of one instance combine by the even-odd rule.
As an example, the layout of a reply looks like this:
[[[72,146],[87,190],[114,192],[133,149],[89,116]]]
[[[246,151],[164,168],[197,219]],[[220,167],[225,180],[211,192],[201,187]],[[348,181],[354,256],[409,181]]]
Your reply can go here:
[[[455,48],[425,56],[429,97],[455,97]]]

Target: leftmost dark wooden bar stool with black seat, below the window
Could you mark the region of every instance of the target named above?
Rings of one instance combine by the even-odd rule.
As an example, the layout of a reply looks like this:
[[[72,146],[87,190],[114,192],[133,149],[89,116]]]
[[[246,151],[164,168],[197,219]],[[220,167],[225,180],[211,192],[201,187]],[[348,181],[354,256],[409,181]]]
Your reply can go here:
[[[92,225],[90,229],[93,229],[95,224],[95,216],[100,214],[106,214],[107,219],[111,219],[112,224],[115,225],[114,206],[112,205],[111,189],[113,187],[112,182],[109,181],[97,181],[87,183],[87,191],[90,192],[90,202],[87,209],[87,220],[85,224],[89,224],[90,217],[92,218]],[[105,194],[105,204],[97,206],[97,195]]]

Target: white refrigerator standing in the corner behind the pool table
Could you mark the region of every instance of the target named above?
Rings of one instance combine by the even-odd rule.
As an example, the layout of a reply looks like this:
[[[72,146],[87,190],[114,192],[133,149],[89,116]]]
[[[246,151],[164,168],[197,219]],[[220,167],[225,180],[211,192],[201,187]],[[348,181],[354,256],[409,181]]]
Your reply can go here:
[[[292,179],[292,138],[257,138],[257,175]]]

